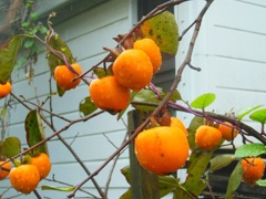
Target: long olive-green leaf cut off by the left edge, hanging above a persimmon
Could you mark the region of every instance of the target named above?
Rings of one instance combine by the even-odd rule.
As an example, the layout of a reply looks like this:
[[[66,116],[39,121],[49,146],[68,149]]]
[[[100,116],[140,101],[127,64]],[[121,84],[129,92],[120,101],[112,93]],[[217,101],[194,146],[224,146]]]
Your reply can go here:
[[[0,51],[0,83],[9,81],[23,38],[23,35],[14,35],[8,46]]]

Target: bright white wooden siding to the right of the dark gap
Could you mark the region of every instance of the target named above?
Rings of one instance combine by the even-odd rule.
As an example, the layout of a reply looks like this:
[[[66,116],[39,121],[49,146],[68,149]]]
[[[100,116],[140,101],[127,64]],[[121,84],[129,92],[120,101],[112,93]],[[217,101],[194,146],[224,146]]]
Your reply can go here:
[[[176,9],[181,32],[198,14],[204,1],[184,3]],[[265,104],[266,88],[266,7],[257,0],[215,0],[204,17],[192,64],[202,72],[186,69],[178,87],[184,100],[213,92],[215,103],[209,111],[224,114],[231,108]],[[184,36],[176,59],[184,60],[192,31]],[[188,125],[191,116],[180,113]],[[259,125],[244,118],[257,130]],[[241,140],[237,140],[241,144]]]

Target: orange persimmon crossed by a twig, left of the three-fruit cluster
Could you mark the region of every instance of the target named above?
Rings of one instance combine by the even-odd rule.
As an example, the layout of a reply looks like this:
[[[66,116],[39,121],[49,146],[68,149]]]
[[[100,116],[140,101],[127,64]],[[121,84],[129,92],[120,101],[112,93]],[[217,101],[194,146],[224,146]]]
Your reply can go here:
[[[78,74],[82,73],[82,69],[79,64],[72,64],[71,66]],[[65,91],[75,88],[80,84],[81,78],[73,81],[73,78],[75,78],[76,76],[78,75],[72,72],[66,65],[58,65],[54,69],[53,73],[53,77],[59,87]]]

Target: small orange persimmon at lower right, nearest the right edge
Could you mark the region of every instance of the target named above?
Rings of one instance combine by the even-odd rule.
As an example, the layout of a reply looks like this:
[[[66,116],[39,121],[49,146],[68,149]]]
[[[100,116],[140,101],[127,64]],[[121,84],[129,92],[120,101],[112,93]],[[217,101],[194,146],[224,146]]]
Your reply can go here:
[[[265,163],[262,158],[242,159],[242,169],[244,171],[243,180],[249,185],[255,185],[264,176]]]

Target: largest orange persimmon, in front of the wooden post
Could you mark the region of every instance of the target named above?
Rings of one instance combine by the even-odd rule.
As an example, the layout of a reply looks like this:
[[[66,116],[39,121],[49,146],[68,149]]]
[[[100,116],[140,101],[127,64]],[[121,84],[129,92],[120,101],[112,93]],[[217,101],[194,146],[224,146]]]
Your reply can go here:
[[[188,158],[188,142],[178,127],[150,128],[135,138],[135,155],[143,168],[163,176],[183,167]]]

